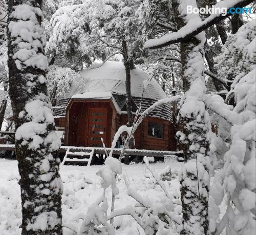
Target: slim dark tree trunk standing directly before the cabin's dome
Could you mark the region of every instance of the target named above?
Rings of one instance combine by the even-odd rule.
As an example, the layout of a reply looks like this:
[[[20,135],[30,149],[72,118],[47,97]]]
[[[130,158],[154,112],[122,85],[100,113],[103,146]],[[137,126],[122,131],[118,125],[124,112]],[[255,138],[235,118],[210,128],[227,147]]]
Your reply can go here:
[[[125,89],[126,89],[126,111],[127,111],[127,126],[133,125],[133,109],[132,109],[132,95],[131,95],[131,63],[127,52],[126,41],[122,40],[123,50],[123,65],[125,68]],[[134,148],[134,137],[129,141],[129,147]]]

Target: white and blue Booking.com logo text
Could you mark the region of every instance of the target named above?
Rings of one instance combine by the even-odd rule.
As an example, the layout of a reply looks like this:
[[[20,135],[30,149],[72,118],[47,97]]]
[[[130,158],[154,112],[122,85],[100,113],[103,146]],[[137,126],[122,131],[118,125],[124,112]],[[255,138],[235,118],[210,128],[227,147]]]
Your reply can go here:
[[[206,6],[206,8],[204,7],[197,8],[197,7],[187,5],[187,14],[191,14],[191,13],[233,15],[233,14],[251,13],[251,8],[250,7],[243,7],[243,8],[231,7],[227,9],[225,7],[208,7],[208,6]]]

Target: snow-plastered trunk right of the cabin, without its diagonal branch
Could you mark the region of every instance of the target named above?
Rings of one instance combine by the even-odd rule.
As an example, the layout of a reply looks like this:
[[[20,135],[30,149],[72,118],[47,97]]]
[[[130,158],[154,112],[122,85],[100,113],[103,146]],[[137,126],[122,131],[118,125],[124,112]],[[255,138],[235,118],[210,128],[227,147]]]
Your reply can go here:
[[[190,4],[191,0],[183,0],[181,7]],[[191,5],[195,4],[196,1]],[[186,11],[183,9],[181,12]],[[199,20],[199,15],[194,17]],[[179,28],[184,26],[186,21],[186,15],[181,15]],[[209,233],[209,119],[201,101],[206,91],[204,42],[205,33],[202,32],[189,41],[182,42],[180,46],[185,93],[179,112],[180,132],[177,133],[182,143],[185,161],[180,179],[183,213],[181,234]]]

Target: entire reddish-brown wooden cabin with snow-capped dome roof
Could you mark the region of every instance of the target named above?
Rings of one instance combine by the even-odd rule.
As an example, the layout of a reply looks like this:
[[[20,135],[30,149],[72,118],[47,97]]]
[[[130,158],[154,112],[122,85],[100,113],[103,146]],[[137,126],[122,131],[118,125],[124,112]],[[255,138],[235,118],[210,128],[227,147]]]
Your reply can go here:
[[[121,125],[127,123],[125,105],[125,69],[122,62],[105,62],[99,68],[82,72],[82,84],[72,85],[66,97],[56,102],[56,126],[65,129],[65,145],[111,147]],[[131,70],[132,108],[135,115],[143,93],[143,81],[150,77],[142,70]],[[79,88],[78,88],[79,87]],[[157,81],[148,83],[141,102],[141,112],[166,95]],[[120,137],[120,145],[123,138]],[[176,150],[172,105],[154,110],[135,132],[138,149]]]

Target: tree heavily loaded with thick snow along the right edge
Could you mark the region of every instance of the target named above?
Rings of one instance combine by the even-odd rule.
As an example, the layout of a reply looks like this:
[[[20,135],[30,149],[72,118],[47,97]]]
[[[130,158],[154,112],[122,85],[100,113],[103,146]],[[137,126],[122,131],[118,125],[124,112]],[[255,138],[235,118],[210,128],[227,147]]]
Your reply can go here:
[[[234,97],[233,125],[230,130],[231,145],[224,156],[221,169],[210,190],[210,230],[215,234],[255,233],[255,22],[243,25],[236,34],[230,35],[218,57],[220,73],[234,75],[229,94]],[[254,61],[254,62],[253,62]],[[234,68],[234,69],[233,69]],[[227,96],[227,100],[229,99]],[[225,196],[225,197],[224,197]],[[219,220],[219,205],[227,205]]]

